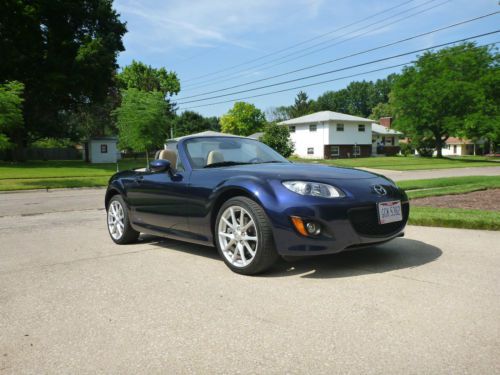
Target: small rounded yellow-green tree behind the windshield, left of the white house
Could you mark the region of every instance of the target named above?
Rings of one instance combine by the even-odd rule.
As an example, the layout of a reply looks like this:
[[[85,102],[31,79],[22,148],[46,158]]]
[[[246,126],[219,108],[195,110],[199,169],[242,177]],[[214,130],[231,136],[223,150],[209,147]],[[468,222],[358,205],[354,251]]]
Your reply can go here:
[[[266,118],[262,111],[253,104],[245,102],[234,103],[220,119],[223,133],[247,136],[264,128]]]

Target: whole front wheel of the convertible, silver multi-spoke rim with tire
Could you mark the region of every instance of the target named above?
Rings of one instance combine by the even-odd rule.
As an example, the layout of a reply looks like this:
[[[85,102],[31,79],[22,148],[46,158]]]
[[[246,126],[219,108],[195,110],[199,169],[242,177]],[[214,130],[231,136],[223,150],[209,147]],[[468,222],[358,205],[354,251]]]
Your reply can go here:
[[[222,205],[215,223],[215,237],[222,259],[237,273],[263,272],[279,258],[266,213],[246,197],[231,198]]]

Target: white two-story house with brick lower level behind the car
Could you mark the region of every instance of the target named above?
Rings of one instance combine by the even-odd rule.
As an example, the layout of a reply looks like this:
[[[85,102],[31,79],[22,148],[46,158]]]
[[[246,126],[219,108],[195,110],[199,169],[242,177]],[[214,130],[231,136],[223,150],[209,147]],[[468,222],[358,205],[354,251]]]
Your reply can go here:
[[[370,156],[373,120],[322,111],[280,122],[290,129],[295,154],[332,159]]]

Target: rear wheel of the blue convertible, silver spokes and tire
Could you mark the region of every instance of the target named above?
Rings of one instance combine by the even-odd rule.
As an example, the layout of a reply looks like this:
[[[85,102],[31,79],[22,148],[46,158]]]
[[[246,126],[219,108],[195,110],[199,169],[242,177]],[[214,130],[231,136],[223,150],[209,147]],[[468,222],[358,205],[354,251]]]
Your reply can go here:
[[[124,245],[139,238],[139,232],[130,226],[127,206],[121,195],[115,195],[109,201],[107,221],[109,235],[115,243]]]

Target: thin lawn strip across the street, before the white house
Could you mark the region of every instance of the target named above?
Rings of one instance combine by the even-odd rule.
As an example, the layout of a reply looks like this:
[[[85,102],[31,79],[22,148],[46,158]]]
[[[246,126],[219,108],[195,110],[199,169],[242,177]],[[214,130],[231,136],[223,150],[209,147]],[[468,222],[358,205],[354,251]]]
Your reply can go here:
[[[389,169],[397,171],[500,166],[500,160],[498,158],[486,158],[482,156],[464,156],[442,159],[422,158],[418,156],[387,156],[332,160],[291,158],[290,160],[298,163],[321,163],[339,167]]]

